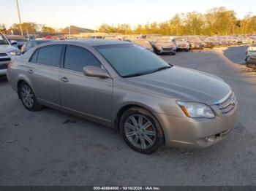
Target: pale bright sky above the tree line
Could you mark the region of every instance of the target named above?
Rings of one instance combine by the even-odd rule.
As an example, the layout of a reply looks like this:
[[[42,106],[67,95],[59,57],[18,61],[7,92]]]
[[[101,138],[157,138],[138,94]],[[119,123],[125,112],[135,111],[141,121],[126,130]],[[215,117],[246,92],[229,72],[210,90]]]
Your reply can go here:
[[[102,23],[116,25],[170,20],[176,13],[207,12],[213,7],[233,9],[238,18],[248,12],[256,15],[256,0],[18,0],[22,22],[35,22],[53,28],[80,26],[97,29]],[[0,0],[0,24],[18,23],[15,0]]]

